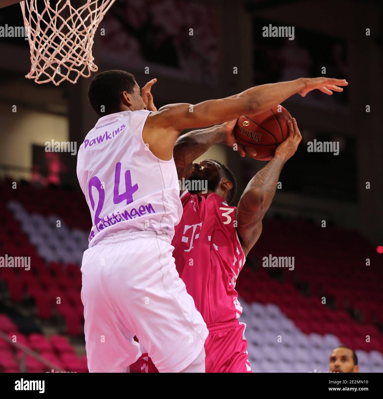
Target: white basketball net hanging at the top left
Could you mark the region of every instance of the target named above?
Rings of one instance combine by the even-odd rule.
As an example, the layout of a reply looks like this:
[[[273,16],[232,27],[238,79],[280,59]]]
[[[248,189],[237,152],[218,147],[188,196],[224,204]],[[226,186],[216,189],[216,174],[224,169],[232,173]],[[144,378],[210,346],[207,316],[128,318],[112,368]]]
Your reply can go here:
[[[44,0],[39,9],[37,0],[21,2],[32,64],[25,77],[59,85],[64,80],[76,83],[80,76],[97,71],[94,34],[114,1],[82,0],[84,4],[75,8],[70,0]]]

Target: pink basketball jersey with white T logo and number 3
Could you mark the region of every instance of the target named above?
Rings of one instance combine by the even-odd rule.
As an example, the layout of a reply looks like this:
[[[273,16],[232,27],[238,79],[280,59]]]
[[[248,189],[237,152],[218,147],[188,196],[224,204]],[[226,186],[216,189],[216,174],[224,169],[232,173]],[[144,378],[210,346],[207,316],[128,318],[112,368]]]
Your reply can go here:
[[[206,324],[239,318],[235,283],[245,256],[236,232],[236,207],[215,193],[181,196],[183,217],[172,241],[176,268]]]

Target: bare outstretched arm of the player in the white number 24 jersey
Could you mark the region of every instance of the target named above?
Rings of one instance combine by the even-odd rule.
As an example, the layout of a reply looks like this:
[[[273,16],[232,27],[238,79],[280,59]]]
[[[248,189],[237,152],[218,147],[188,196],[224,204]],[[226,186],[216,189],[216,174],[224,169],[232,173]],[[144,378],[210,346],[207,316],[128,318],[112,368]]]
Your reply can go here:
[[[343,91],[345,79],[299,78],[289,82],[251,87],[242,93],[217,100],[192,104],[169,104],[152,112],[143,129],[143,139],[158,158],[169,160],[174,144],[184,129],[203,128],[238,119],[241,115],[256,115],[270,109],[292,95],[305,96],[319,89],[326,94]]]

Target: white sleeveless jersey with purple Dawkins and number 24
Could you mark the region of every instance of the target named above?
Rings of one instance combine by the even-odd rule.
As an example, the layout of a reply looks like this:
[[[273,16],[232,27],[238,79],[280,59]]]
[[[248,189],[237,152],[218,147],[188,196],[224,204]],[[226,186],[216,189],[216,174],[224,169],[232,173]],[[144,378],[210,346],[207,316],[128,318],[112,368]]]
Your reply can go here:
[[[89,247],[102,237],[139,231],[173,238],[182,216],[176,165],[145,145],[149,114],[123,111],[100,118],[78,150],[77,177],[93,222]]]

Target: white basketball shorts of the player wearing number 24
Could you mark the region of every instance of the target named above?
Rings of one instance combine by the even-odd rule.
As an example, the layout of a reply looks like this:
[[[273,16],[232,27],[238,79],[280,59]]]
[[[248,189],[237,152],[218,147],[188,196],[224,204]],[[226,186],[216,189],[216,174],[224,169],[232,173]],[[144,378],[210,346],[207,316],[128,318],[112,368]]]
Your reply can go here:
[[[162,373],[179,372],[209,332],[186,292],[169,237],[154,232],[101,239],[82,259],[88,369],[125,372],[140,356],[136,335]]]

